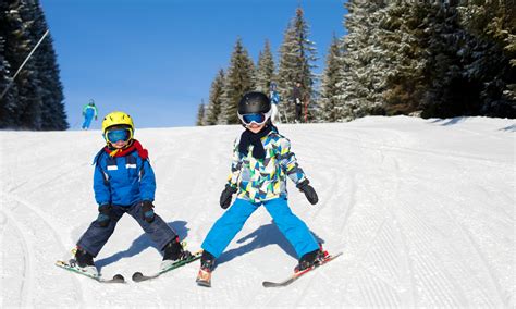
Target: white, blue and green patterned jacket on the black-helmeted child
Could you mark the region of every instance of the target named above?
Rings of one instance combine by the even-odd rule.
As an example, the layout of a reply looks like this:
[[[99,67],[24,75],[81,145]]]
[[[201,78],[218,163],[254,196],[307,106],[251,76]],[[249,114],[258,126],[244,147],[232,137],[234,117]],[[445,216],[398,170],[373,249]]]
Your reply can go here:
[[[239,137],[233,148],[233,161],[228,182],[238,188],[237,197],[251,202],[260,202],[273,198],[287,197],[286,176],[296,185],[306,176],[298,166],[291,141],[283,135],[271,131],[261,138],[266,150],[263,160],[253,157],[253,145],[244,157],[238,151]]]

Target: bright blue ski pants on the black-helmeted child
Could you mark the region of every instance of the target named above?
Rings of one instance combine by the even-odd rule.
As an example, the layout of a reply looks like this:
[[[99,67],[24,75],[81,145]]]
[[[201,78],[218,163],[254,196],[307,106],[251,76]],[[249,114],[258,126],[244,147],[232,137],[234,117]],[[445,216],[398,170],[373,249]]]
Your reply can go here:
[[[233,206],[213,224],[205,242],[202,242],[201,248],[213,255],[216,259],[219,258],[236,236],[236,233],[242,230],[247,219],[261,205],[265,206],[274,224],[294,247],[297,258],[319,249],[319,245],[308,226],[292,213],[284,198],[275,198],[260,203],[253,203],[237,198]]]

